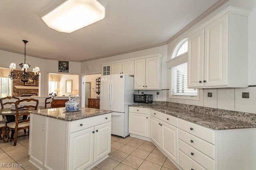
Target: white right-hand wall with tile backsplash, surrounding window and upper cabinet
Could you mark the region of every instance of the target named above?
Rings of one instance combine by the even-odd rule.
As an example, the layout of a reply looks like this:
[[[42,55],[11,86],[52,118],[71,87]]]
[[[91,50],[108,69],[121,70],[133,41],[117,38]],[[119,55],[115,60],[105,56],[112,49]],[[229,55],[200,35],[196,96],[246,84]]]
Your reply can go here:
[[[205,21],[209,20],[228,6],[236,6],[240,8],[245,8],[252,10],[250,16],[248,17],[248,84],[256,85],[256,0],[229,0],[226,4],[221,6],[219,9],[214,11],[212,14],[204,18],[202,21],[194,25],[191,29],[177,37],[174,41],[168,44],[168,60],[172,55],[172,51],[176,44],[186,35],[194,30],[196,27],[200,26]],[[169,82],[169,72],[167,72],[168,82]],[[169,88],[169,83],[168,83]],[[212,93],[212,97],[208,97],[208,92]],[[242,98],[242,92],[249,92],[249,98]],[[192,104],[198,106],[227,109],[234,111],[242,111],[248,113],[256,113],[256,87],[249,88],[213,88],[213,89],[204,89],[200,90],[200,100],[184,100],[184,99],[175,99],[169,98],[169,90],[167,91],[167,101],[177,102],[184,104]]]

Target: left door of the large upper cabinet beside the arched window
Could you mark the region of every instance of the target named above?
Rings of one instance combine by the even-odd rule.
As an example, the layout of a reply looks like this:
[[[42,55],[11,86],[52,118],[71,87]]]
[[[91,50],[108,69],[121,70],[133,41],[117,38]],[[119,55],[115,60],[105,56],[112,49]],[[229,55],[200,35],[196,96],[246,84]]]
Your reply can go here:
[[[204,85],[204,29],[188,37],[188,87]]]

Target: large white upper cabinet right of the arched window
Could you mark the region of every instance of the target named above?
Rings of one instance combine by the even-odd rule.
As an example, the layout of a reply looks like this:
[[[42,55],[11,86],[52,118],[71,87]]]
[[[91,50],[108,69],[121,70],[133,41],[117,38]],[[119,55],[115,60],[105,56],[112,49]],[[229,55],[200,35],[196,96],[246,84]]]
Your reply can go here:
[[[188,87],[248,87],[247,10],[227,8],[188,35]]]

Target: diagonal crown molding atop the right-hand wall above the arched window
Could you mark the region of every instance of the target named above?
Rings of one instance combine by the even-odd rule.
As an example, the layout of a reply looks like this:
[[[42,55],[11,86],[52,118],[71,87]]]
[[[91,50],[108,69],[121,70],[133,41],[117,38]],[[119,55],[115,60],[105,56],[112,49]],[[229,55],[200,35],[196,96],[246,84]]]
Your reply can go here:
[[[188,25],[186,25],[184,28],[182,28],[178,33],[174,34],[170,39],[166,41],[167,44],[172,42],[174,39],[182,35],[184,32],[188,31],[192,26],[196,25],[199,21],[203,20],[206,16],[210,15],[212,12],[220,8],[223,4],[228,2],[229,0],[218,0],[215,4],[213,4],[210,8],[208,8],[205,12],[203,12],[200,16],[198,16],[196,19],[191,21]]]

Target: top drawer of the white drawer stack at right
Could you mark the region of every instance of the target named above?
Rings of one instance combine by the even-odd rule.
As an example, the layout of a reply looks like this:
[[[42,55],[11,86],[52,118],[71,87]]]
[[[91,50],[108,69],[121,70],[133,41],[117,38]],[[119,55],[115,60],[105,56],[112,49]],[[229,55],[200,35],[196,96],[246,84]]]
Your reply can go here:
[[[179,119],[179,128],[215,145],[215,131],[212,129],[182,119]]]

